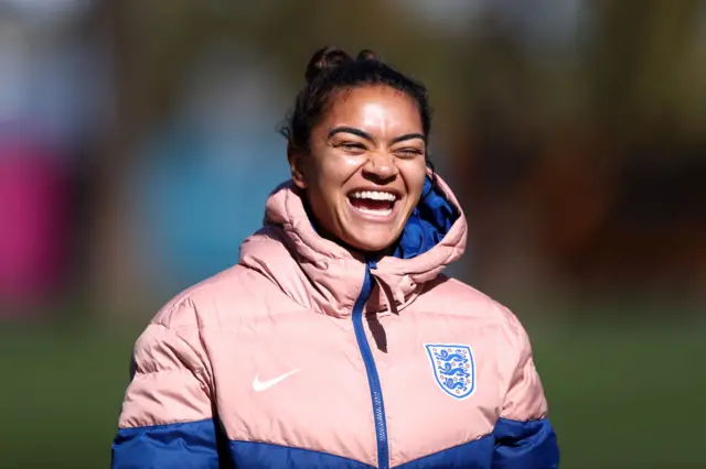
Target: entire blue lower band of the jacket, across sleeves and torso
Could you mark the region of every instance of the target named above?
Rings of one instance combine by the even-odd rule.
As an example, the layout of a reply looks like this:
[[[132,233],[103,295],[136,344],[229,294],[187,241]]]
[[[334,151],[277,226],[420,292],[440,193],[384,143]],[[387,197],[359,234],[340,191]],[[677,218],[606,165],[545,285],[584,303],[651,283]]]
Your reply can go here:
[[[372,466],[327,452],[223,439],[212,419],[120,429],[113,445],[113,469],[355,468]],[[218,443],[216,443],[218,441]],[[221,460],[218,458],[221,452]],[[229,457],[226,456],[231,452]],[[556,469],[559,452],[547,419],[501,418],[493,435],[409,461],[395,469]]]

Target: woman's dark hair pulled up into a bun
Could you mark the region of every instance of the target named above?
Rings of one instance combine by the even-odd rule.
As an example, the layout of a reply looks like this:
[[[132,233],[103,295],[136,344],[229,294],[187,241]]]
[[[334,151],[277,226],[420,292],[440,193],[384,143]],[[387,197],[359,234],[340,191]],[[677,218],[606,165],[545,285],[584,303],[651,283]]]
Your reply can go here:
[[[317,51],[307,65],[307,84],[297,95],[295,108],[280,127],[291,149],[308,152],[312,129],[319,123],[332,97],[341,90],[363,86],[388,86],[411,98],[421,118],[425,138],[429,139],[431,109],[427,88],[419,81],[379,61],[370,50],[356,58],[338,47]],[[430,162],[427,160],[430,165]]]

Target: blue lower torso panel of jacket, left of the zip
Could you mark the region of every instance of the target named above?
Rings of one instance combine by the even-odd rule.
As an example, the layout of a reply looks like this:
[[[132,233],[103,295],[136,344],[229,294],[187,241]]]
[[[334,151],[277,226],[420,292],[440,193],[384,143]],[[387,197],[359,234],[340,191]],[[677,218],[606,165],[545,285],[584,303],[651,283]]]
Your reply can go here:
[[[238,469],[373,469],[363,462],[327,452],[266,443],[231,441],[231,451]]]

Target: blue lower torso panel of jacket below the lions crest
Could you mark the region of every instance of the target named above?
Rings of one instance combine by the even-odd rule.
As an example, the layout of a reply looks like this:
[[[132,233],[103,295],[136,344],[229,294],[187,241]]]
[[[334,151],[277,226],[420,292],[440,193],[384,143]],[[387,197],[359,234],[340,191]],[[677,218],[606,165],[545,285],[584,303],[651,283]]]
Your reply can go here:
[[[396,466],[395,469],[489,469],[493,457],[493,445],[492,435],[488,435],[474,441]]]

